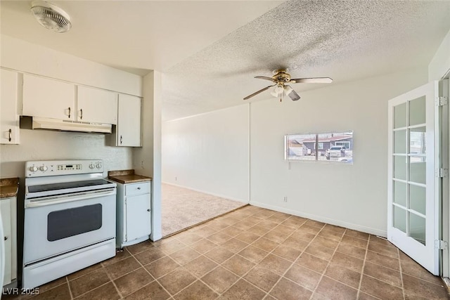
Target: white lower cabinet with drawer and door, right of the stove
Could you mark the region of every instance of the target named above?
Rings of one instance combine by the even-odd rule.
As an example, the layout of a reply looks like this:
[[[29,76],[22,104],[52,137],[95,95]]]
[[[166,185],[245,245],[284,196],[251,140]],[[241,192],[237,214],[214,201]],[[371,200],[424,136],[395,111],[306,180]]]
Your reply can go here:
[[[148,240],[151,233],[150,181],[117,183],[118,248]]]

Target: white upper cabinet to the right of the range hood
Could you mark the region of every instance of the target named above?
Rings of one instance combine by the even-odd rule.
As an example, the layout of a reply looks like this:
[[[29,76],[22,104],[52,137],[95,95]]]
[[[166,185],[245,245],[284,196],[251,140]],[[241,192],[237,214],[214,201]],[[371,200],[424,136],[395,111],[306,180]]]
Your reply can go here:
[[[119,94],[117,146],[141,146],[141,98]]]

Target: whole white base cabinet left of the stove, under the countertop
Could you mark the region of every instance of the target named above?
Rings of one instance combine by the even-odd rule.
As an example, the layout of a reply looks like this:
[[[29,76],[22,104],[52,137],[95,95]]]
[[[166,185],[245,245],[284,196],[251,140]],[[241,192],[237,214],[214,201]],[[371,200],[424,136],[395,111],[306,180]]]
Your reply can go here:
[[[16,226],[16,197],[0,199],[0,214],[4,230],[1,241],[5,245],[5,273],[4,285],[8,285],[17,278],[17,226]]]

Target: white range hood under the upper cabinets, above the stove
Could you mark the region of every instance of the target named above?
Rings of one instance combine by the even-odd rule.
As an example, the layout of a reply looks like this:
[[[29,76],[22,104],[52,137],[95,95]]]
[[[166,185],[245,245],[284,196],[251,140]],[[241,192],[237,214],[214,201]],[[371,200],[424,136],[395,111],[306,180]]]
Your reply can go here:
[[[77,122],[51,118],[20,116],[20,128],[111,133],[113,125],[103,123]]]

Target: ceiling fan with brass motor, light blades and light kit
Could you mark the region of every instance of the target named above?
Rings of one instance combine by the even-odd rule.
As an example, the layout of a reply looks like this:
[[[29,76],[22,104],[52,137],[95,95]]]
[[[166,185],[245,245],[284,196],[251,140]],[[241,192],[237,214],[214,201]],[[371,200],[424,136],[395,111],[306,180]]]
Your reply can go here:
[[[244,100],[248,100],[253,96],[256,96],[267,89],[270,89],[272,86],[275,86],[274,90],[271,91],[271,95],[274,97],[280,96],[280,101],[283,98],[283,95],[288,95],[293,101],[299,100],[300,96],[291,88],[288,84],[329,84],[333,81],[330,77],[314,77],[314,78],[297,78],[291,79],[290,74],[287,73],[287,70],[275,70],[274,76],[266,77],[266,76],[256,76],[258,79],[266,79],[274,82],[271,86],[266,86],[264,89],[260,89],[259,91],[252,93],[251,95],[244,98]]]

